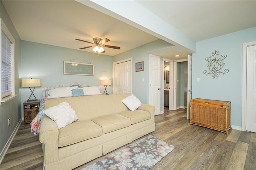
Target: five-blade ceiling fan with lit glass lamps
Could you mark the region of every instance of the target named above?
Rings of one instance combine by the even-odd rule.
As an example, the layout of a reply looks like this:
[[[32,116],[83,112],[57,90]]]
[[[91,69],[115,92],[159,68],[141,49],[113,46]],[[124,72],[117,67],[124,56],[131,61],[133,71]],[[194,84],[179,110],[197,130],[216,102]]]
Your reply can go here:
[[[88,42],[88,41],[84,41],[82,39],[76,39],[76,40],[83,41],[83,42],[86,42],[86,43],[91,43],[91,42]],[[90,47],[94,47],[92,50],[97,52],[98,54],[106,52],[103,47],[118,49],[118,50],[120,49],[120,47],[105,45],[106,42],[110,41],[110,39],[107,39],[107,38],[103,38],[103,39],[94,38],[93,41],[94,41],[94,43],[91,43],[91,44],[94,44],[94,45],[88,46],[88,47],[83,47],[83,48],[80,48],[80,49],[82,50],[82,49],[87,49],[87,48],[90,48]]]

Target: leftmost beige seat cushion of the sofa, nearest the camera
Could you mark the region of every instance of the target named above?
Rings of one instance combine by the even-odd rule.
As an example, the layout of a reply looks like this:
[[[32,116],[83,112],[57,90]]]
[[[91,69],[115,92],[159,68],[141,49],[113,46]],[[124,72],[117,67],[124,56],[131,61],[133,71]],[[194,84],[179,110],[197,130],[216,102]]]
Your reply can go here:
[[[102,135],[102,128],[93,121],[75,121],[59,129],[58,147],[64,147],[100,135]]]

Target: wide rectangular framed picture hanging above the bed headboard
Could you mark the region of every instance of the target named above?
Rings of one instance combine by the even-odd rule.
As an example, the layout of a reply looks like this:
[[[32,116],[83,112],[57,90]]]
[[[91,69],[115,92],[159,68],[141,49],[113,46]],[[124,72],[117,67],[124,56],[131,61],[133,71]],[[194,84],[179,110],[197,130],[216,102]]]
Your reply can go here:
[[[64,61],[64,74],[94,76],[94,64]]]

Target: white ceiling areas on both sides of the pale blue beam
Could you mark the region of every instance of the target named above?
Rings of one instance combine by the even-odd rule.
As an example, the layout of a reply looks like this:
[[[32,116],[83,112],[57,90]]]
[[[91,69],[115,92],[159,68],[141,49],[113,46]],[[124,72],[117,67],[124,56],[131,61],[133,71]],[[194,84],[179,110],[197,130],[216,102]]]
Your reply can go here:
[[[3,0],[20,38],[70,49],[91,46],[94,37],[108,38],[104,55],[114,56],[157,40],[140,29],[73,0]],[[136,1],[194,41],[202,41],[256,26],[256,1],[143,0]],[[131,9],[132,12],[132,9]],[[92,52],[92,48],[83,51]],[[191,51],[176,45],[153,54],[185,59]],[[180,57],[174,57],[174,55]]]

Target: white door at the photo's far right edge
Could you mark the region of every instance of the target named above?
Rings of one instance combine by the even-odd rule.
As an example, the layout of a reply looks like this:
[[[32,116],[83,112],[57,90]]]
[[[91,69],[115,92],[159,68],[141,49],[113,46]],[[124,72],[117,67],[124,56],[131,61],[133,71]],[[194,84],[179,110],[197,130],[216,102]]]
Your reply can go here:
[[[256,133],[256,45],[247,47],[246,131]]]

